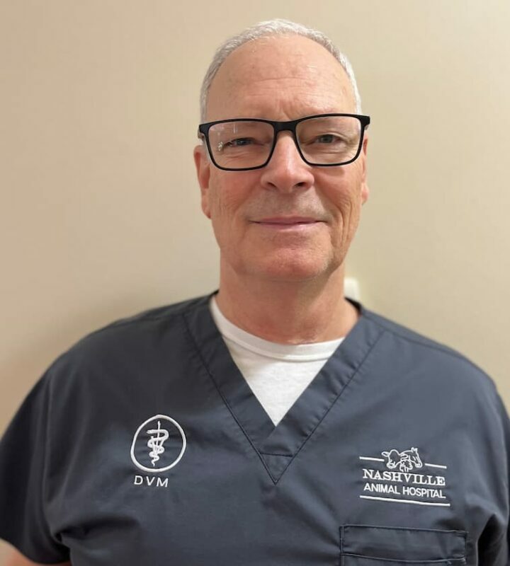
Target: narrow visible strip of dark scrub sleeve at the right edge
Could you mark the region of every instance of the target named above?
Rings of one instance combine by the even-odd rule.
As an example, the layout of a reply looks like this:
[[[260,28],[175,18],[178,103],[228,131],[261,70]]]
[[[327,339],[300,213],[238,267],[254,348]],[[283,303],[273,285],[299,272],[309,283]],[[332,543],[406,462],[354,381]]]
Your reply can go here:
[[[502,430],[502,458],[498,462],[494,462],[493,466],[500,468],[497,470],[497,477],[502,484],[500,490],[502,497],[499,497],[497,510],[487,522],[485,531],[480,537],[478,555],[480,564],[508,566],[510,564],[510,420],[504,403],[497,393],[496,407]]]

